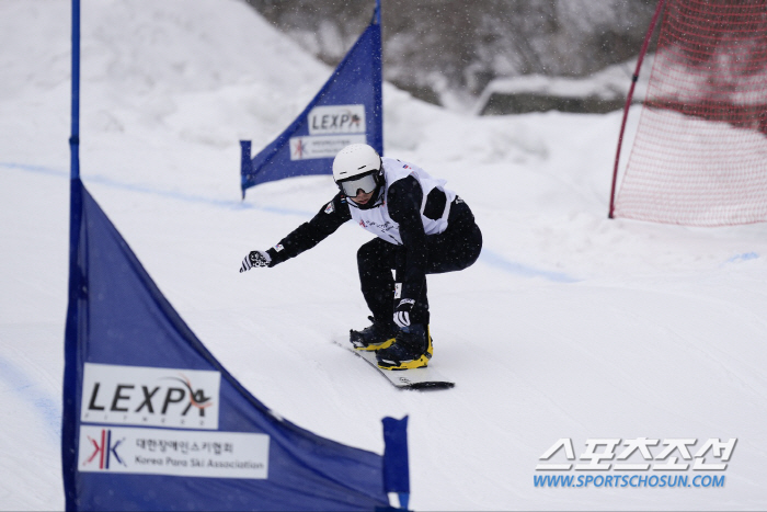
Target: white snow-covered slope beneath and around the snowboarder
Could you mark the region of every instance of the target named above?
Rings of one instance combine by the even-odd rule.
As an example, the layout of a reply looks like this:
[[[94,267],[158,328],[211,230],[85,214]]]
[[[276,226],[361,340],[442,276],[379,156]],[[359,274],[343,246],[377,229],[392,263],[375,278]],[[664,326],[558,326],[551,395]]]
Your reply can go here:
[[[456,388],[398,391],[331,343],[366,325],[364,230],[238,272],[335,191],[299,178],[241,202],[238,140],[271,141],[331,70],[240,1],[82,12],[83,181],[270,408],[377,453],[380,418],[410,414],[416,510],[767,509],[767,225],[608,220],[619,113],[481,118],[385,87],[386,153],[446,178],[484,234],[476,265],[430,277],[433,365]],[[67,0],[0,2],[2,510],[64,507],[69,16]],[[588,439],[645,436],[737,437],[725,486],[534,487],[561,437],[580,456]]]

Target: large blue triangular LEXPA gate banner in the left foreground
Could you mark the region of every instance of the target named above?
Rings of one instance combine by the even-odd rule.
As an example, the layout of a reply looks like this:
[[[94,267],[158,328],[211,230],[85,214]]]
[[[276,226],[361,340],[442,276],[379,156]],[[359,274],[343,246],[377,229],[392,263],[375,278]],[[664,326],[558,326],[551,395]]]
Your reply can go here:
[[[401,460],[385,464],[272,414],[184,323],[79,178],[71,194],[67,510],[375,510],[403,491],[385,486],[385,465],[407,475],[407,448],[388,447]]]

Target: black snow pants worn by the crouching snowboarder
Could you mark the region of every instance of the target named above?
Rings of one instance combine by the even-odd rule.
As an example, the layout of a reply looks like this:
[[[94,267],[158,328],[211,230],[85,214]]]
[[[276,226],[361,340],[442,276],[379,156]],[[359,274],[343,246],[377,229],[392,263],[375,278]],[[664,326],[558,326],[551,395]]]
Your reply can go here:
[[[469,206],[461,200],[450,205],[447,229],[426,236],[426,274],[456,272],[471,266],[482,250],[482,232],[474,221]],[[404,276],[405,251],[402,246],[375,238],[357,251],[357,268],[363,296],[376,321],[390,322],[394,315],[394,277],[401,283]],[[428,325],[428,298],[424,276],[421,295],[415,298],[411,312],[412,323]]]

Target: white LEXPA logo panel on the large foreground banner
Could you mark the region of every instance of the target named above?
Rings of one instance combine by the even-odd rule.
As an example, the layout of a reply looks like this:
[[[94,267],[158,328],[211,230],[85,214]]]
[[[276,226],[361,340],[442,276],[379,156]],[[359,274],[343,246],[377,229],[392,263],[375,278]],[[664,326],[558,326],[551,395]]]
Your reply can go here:
[[[80,419],[216,430],[220,380],[218,372],[85,363]]]

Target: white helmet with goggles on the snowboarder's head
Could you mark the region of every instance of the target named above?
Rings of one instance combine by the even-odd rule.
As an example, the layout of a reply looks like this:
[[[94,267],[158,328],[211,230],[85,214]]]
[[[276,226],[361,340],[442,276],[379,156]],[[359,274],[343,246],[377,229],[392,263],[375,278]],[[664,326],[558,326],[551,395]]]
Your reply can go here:
[[[367,144],[351,144],[333,160],[333,180],[347,196],[354,197],[358,189],[370,193],[384,182],[381,157]]]

